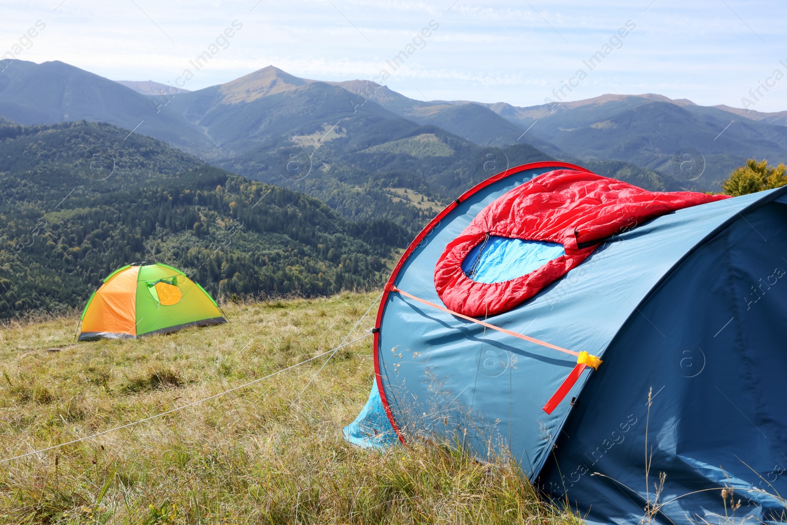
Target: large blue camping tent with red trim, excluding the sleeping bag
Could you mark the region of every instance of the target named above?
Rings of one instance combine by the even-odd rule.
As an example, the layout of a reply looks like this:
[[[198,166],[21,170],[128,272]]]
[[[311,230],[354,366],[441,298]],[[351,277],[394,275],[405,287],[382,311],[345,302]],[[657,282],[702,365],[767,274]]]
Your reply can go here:
[[[416,238],[379,308],[377,383],[345,436],[381,447],[436,435],[480,460],[510,454],[591,523],[787,520],[787,187],[604,239],[534,297],[481,319],[510,333],[435,308],[446,246],[492,201],[562,168],[582,170],[542,162],[494,176]],[[532,268],[560,252],[544,250],[487,251],[492,266]],[[511,277],[497,273],[488,279]],[[577,361],[512,334],[603,364],[547,413]]]

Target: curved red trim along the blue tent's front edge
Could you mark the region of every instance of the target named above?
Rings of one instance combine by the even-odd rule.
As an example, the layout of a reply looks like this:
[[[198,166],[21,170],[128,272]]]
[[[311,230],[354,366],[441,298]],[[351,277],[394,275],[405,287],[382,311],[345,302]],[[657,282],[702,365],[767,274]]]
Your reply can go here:
[[[408,257],[412,255],[412,252],[416,250],[416,247],[423,241],[424,238],[429,235],[430,231],[440,224],[440,221],[445,218],[449,213],[456,208],[461,202],[467,200],[467,198],[471,197],[472,195],[476,194],[478,191],[483,190],[485,187],[490,186],[493,183],[497,183],[497,181],[501,179],[505,179],[508,176],[512,176],[515,173],[523,172],[530,169],[538,169],[538,168],[566,168],[566,169],[573,169],[578,172],[586,172],[591,173],[588,169],[582,168],[582,166],[577,166],[573,164],[569,164],[567,162],[558,162],[558,161],[541,161],[541,162],[531,162],[530,164],[523,164],[520,166],[515,166],[514,168],[508,168],[504,172],[500,172],[497,175],[491,176],[489,179],[483,180],[482,182],[476,184],[471,189],[461,194],[460,198],[453,201],[451,204],[445,207],[442,212],[438,213],[438,216],[434,217],[426,227],[421,230],[421,232],[413,239],[410,243],[410,246],[407,247],[405,253],[402,254],[401,258],[397,265],[393,268],[393,272],[391,272],[390,278],[388,279],[388,283],[386,283],[385,290],[382,292],[382,298],[380,299],[380,308],[377,310],[377,320],[375,321],[375,327],[380,327],[382,324],[382,312],[385,309],[386,301],[388,301],[388,295],[391,292],[391,287],[393,287],[393,283],[399,275],[399,271],[401,267],[405,264],[405,261],[408,260]],[[380,375],[380,364],[379,364],[379,346],[380,346],[380,332],[375,332],[375,342],[374,342],[374,361],[375,361],[375,379],[377,380],[377,390],[380,393],[380,399],[382,400],[382,406],[386,409],[386,415],[388,416],[388,420],[390,420],[391,427],[393,427],[393,431],[396,432],[399,441],[402,443],[405,442],[405,438],[401,435],[399,431],[399,427],[397,427],[396,421],[393,419],[393,413],[391,412],[390,406],[388,405],[388,400],[386,399],[386,390],[382,386],[382,376]]]

